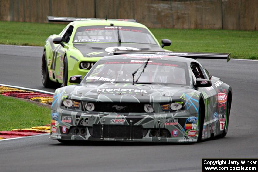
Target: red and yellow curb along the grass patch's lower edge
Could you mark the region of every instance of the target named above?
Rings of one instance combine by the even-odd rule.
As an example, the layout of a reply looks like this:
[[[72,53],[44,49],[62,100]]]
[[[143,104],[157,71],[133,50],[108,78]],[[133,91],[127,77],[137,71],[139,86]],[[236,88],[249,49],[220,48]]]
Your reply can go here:
[[[32,128],[13,129],[11,131],[0,131],[0,140],[15,137],[35,136],[43,133],[50,133],[50,126],[36,126]]]

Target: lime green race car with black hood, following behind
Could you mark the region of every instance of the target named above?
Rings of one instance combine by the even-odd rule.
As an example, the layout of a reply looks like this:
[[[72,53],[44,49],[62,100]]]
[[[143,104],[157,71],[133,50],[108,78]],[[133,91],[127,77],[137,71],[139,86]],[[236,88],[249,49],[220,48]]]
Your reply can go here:
[[[84,76],[95,62],[115,49],[165,51],[151,31],[132,19],[48,17],[51,22],[71,22],[58,35],[46,39],[42,56],[45,87],[69,85],[72,75]]]

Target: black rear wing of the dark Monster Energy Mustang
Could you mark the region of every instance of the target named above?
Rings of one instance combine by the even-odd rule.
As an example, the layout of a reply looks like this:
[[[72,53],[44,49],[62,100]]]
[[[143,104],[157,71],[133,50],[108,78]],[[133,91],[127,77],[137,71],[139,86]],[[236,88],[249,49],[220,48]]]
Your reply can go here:
[[[202,53],[202,52],[169,52],[169,51],[132,51],[132,50],[115,50],[114,55],[118,54],[159,54],[168,56],[187,57],[192,59],[227,59],[230,60],[229,54],[222,53]]]

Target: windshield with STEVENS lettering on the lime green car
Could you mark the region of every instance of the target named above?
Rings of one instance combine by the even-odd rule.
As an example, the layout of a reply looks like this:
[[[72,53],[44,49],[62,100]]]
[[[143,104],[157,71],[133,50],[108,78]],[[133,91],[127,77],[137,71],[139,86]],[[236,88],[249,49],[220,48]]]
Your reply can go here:
[[[119,30],[119,31],[118,31]],[[73,43],[119,42],[118,32],[123,43],[157,44],[145,28],[130,26],[83,26],[78,27]]]

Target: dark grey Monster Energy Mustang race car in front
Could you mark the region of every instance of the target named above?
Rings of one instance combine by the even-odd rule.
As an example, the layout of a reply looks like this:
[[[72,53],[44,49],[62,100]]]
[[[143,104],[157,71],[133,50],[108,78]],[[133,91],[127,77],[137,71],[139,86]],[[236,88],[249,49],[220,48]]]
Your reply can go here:
[[[83,79],[71,76],[78,85],[56,89],[51,139],[197,142],[227,134],[232,89],[195,59],[229,54],[114,53]]]

